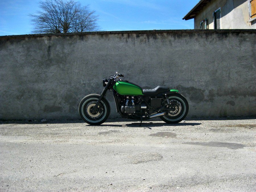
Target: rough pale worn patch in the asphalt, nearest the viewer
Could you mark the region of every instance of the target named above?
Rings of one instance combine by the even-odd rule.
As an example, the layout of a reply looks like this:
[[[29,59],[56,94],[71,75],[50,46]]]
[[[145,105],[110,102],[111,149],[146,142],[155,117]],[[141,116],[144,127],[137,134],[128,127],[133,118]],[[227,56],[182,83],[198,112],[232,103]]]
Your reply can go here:
[[[159,153],[154,152],[140,152],[140,153],[133,153],[128,155],[128,162],[133,164],[148,162],[148,161],[159,161],[163,158],[163,156]]]

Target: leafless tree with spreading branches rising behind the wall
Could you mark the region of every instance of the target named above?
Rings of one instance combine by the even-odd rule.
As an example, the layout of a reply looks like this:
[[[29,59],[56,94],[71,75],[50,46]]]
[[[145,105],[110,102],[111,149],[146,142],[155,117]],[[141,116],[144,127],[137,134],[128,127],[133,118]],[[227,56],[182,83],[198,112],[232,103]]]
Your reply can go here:
[[[68,33],[96,31],[98,16],[88,6],[73,0],[40,1],[42,11],[30,14],[34,25],[33,33]]]

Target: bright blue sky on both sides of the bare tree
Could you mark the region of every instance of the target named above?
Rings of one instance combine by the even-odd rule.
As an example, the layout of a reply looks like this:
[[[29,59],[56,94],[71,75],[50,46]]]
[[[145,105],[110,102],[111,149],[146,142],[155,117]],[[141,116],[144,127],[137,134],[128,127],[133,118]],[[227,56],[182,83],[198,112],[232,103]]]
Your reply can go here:
[[[80,0],[95,10],[102,31],[193,29],[182,20],[199,0]],[[0,0],[0,36],[31,34],[39,0]]]

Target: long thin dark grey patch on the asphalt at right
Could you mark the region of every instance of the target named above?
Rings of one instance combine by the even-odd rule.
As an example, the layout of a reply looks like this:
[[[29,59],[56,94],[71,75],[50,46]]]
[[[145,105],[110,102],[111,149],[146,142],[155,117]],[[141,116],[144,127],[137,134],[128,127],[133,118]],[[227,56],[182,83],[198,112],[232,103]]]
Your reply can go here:
[[[207,147],[227,147],[229,149],[241,149],[245,147],[245,145],[240,143],[223,143],[223,142],[186,142],[183,144],[190,144],[190,145],[201,145]]]

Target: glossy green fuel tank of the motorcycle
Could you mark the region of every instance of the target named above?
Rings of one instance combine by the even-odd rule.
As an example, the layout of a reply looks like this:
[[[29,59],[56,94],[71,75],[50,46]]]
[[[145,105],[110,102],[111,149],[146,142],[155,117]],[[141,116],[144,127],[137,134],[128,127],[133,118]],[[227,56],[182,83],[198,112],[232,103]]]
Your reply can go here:
[[[115,82],[113,89],[120,95],[143,95],[142,89],[139,86],[125,81]]]

